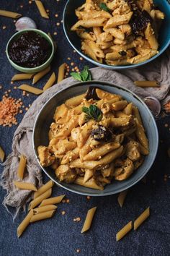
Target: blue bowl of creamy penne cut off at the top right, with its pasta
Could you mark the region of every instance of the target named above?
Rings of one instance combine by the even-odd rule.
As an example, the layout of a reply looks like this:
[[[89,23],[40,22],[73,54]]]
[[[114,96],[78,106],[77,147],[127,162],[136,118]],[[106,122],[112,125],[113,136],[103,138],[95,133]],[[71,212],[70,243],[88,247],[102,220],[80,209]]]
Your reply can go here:
[[[73,48],[100,67],[140,67],[170,43],[166,0],[68,0],[63,30]]]

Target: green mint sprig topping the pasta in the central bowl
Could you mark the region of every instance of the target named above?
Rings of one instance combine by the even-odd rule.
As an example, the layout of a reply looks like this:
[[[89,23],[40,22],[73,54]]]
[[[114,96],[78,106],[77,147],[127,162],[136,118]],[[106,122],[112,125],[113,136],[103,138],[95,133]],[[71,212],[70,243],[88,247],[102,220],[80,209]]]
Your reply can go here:
[[[84,106],[82,111],[86,114],[86,120],[94,119],[96,121],[102,120],[102,111],[96,105],[90,105],[89,108]]]

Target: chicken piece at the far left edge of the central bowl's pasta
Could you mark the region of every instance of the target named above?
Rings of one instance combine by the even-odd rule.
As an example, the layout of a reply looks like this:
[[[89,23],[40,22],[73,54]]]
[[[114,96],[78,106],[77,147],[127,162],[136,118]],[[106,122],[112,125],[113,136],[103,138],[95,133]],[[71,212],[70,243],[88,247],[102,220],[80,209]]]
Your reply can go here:
[[[38,157],[40,159],[40,164],[43,167],[50,166],[55,161],[55,155],[50,152],[50,149],[45,146],[39,146],[37,148]]]

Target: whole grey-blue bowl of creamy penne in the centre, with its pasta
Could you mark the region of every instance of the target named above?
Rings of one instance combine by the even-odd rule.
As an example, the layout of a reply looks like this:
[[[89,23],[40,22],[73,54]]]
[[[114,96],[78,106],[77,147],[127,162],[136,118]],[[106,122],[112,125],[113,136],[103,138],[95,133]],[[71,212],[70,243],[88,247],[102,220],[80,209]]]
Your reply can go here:
[[[45,103],[33,145],[45,173],[82,195],[112,195],[146,175],[158,148],[156,122],[145,103],[108,82],[81,82]]]

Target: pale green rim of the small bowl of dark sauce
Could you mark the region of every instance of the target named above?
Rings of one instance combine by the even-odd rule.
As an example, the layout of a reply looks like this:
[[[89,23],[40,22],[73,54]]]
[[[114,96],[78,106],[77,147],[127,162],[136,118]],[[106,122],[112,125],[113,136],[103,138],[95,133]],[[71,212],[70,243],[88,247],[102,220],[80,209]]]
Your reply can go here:
[[[38,34],[40,35],[45,35],[45,38],[48,38],[48,40],[50,41],[50,44],[52,46],[52,51],[51,51],[51,54],[49,56],[49,58],[43,63],[41,64],[40,66],[37,66],[37,67],[22,67],[22,66],[19,66],[17,65],[16,63],[14,63],[14,61],[12,61],[12,59],[9,58],[9,43],[12,42],[12,40],[17,36],[19,35],[20,33],[26,33],[27,31],[35,31],[37,32]],[[47,40],[47,39],[46,39]],[[37,30],[37,28],[27,28],[27,29],[24,29],[24,30],[19,30],[17,33],[14,33],[14,35],[12,35],[11,38],[9,38],[7,44],[6,44],[6,56],[7,56],[7,59],[9,60],[10,63],[12,63],[14,65],[14,67],[18,68],[18,69],[24,69],[25,72],[29,72],[29,71],[32,71],[32,72],[36,72],[37,69],[41,69],[42,67],[45,67],[45,65],[48,64],[48,61],[50,61],[52,58],[53,58],[53,55],[54,55],[54,44],[53,44],[53,40],[50,38],[50,36],[45,33],[44,31],[42,30]]]

